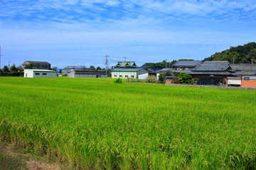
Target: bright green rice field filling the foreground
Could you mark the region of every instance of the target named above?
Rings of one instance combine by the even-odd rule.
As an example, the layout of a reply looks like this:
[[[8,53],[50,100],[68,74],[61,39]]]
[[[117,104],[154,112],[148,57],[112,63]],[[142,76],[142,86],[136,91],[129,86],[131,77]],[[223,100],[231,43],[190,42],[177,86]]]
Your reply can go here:
[[[0,138],[72,169],[255,169],[256,91],[0,78]]]

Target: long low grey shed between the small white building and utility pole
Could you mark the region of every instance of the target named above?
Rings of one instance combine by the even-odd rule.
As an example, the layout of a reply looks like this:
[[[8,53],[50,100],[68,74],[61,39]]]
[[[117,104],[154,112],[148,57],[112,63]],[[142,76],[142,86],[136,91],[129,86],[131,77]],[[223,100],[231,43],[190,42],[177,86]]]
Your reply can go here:
[[[110,74],[110,72],[107,72],[107,75]],[[70,78],[107,78],[105,71],[73,71],[68,73],[68,77]]]

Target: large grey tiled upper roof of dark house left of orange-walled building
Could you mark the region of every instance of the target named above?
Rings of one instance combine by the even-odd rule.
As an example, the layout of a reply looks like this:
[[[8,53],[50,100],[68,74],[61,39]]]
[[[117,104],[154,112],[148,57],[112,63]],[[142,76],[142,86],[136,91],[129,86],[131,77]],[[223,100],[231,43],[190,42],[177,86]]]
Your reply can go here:
[[[232,70],[228,61],[206,61],[198,65],[193,72],[223,72]]]

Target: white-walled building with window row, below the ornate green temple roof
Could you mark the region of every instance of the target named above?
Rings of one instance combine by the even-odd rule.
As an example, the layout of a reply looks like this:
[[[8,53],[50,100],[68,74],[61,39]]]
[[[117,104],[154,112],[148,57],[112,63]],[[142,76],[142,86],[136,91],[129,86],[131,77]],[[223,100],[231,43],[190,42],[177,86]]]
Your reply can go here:
[[[142,68],[136,69],[113,69],[112,78],[121,78],[121,79],[138,79],[139,75],[146,74],[148,71]]]

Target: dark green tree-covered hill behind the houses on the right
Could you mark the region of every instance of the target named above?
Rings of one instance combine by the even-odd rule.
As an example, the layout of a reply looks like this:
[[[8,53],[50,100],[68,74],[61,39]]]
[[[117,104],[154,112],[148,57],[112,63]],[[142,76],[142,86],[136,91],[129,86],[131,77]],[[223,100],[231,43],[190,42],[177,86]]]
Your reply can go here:
[[[203,61],[228,61],[230,63],[256,63],[256,42],[230,47],[229,50],[216,52]]]

